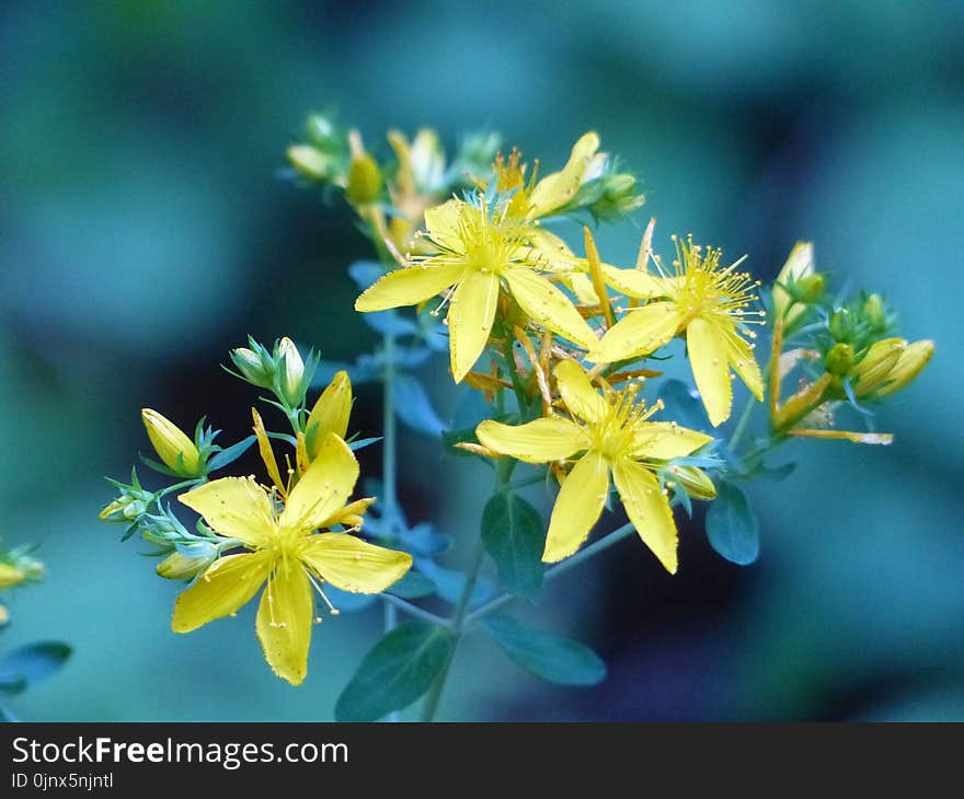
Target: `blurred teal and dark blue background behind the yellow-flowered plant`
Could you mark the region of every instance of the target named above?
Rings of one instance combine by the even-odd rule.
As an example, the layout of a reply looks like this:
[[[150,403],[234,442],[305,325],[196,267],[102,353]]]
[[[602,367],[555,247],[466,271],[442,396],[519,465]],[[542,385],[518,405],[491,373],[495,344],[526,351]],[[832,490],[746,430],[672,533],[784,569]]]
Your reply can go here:
[[[11,703],[20,716],[330,719],[378,634],[377,610],[324,624],[291,688],[252,609],[172,634],[179,586],[96,521],[101,477],[147,447],[142,406],[244,435],[253,396],[217,364],[246,334],[342,360],[374,340],[344,271],[366,242],[277,177],[318,109],[381,151],[388,127],[436,126],[450,149],[492,127],[543,164],[595,128],[642,176],[658,248],[691,231],[770,278],[812,239],[838,286],[885,291],[904,335],[938,341],[883,414],[893,447],[796,444],[796,474],[754,487],[758,564],[714,555],[698,512],[676,578],[627,541],[551,586],[539,615],[596,647],[606,683],[546,686],[473,639],[443,718],[964,719],[962,3],[24,0],[0,14],[0,534],[41,542],[49,568],[12,598],[0,649],[76,648]],[[640,233],[607,230],[604,254],[630,258]],[[450,407],[444,364],[425,375]],[[357,408],[376,435],[374,389]],[[410,516],[474,533],[478,468],[415,433],[402,449]]]

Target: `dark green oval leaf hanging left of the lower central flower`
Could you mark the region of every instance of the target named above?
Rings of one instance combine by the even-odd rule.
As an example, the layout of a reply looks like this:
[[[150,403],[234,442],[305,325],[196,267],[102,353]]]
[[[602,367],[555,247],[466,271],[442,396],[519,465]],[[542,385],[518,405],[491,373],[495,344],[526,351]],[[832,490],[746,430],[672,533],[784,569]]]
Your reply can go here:
[[[482,511],[482,544],[509,593],[535,599],[542,588],[546,525],[531,505],[514,494],[496,494]]]

